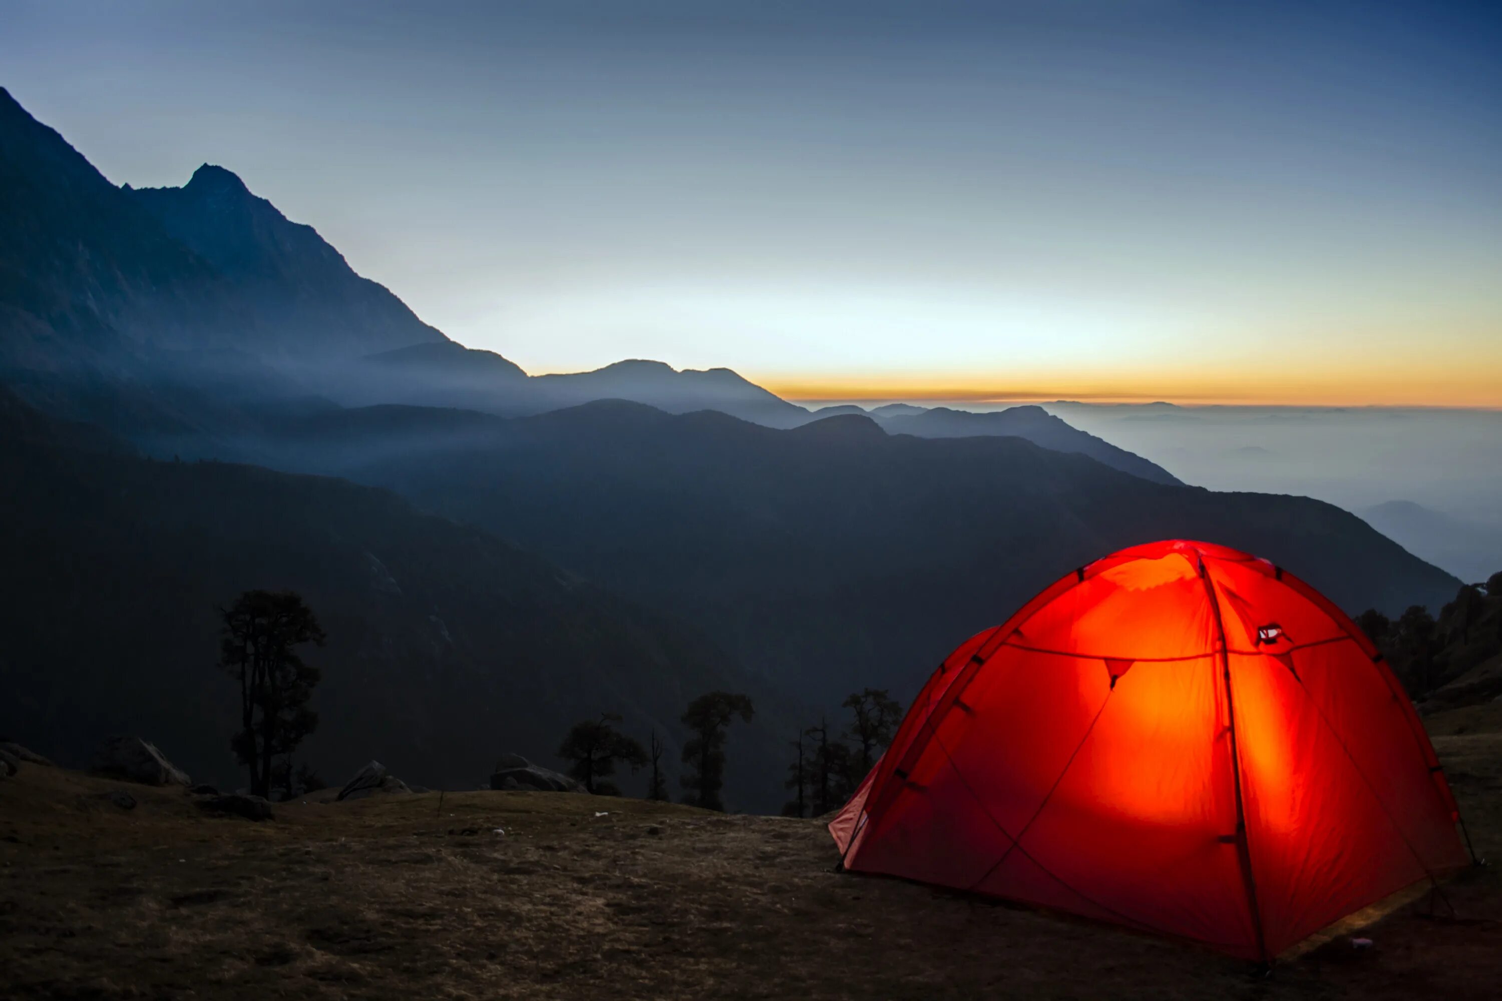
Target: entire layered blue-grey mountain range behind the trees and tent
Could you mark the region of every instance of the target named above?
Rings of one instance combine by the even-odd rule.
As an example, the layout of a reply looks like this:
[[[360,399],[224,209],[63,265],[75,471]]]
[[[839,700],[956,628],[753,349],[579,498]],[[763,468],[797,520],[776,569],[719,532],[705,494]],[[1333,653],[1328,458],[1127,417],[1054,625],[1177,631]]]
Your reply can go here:
[[[775,809],[799,714],[909,698],[1125,545],[1245,548],[1349,611],[1458,587],[1340,509],[1185,486],[1036,407],[810,411],[649,360],[529,375],[228,170],[116,188],[3,90],[0,387],[0,729],[65,758],[146,729],[222,773],[213,606],[252,587],[326,618],[309,749],[335,768],[464,782],[598,711],[676,741],[730,687],[765,707],[733,746],[749,809]]]

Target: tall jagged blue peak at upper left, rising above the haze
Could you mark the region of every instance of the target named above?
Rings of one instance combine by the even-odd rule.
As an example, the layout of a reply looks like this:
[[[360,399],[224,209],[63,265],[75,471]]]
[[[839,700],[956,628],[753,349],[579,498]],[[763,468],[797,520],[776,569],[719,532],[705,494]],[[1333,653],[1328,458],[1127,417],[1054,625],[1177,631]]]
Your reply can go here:
[[[0,309],[24,335],[3,360],[44,368],[81,350],[329,357],[443,339],[230,171],[116,188],[3,89]]]

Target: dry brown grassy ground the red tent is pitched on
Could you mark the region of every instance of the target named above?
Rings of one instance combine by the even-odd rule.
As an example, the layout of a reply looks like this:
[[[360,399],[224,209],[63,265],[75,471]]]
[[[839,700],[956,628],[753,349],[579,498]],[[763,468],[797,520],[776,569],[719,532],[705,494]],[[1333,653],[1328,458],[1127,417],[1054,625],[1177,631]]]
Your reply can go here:
[[[1430,720],[1502,855],[1502,704]],[[120,810],[99,797],[128,788]],[[596,816],[596,812],[608,812]],[[499,834],[500,828],[505,833]],[[6,998],[1494,998],[1502,882],[1349,929],[1271,978],[1113,927],[837,875],[814,821],[541,792],[284,804],[24,767],[0,783]]]

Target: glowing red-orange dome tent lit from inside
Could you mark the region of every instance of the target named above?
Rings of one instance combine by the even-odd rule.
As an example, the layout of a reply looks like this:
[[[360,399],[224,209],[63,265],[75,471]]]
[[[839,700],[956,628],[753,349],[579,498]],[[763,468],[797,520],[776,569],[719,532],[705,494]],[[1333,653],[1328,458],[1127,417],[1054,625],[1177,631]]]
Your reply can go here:
[[[1382,656],[1266,560],[1158,542],[967,639],[829,825],[844,866],[1271,960],[1467,863]]]

